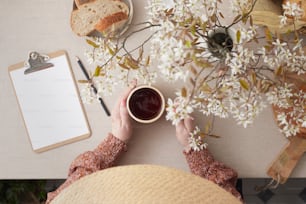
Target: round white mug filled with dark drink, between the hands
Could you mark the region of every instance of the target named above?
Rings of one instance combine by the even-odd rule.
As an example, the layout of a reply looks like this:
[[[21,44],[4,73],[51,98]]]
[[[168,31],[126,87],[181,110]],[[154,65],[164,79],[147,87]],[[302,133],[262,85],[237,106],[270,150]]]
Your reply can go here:
[[[158,120],[165,110],[165,98],[155,87],[137,86],[126,101],[129,115],[137,122],[152,123]]]

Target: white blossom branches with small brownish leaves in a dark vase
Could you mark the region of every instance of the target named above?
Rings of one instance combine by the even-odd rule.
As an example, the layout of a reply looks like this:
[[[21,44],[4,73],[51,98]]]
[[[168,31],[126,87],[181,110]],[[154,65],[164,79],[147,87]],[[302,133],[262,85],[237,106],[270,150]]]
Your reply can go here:
[[[174,125],[199,111],[206,116],[234,118],[238,125],[247,127],[273,104],[290,109],[276,118],[286,136],[296,135],[300,127],[306,127],[306,92],[288,80],[306,72],[299,33],[274,35],[253,25],[256,0],[227,2],[234,14],[230,20],[220,10],[222,3],[150,0],[148,21],[132,25],[121,39],[87,38],[91,49],[86,56],[96,65],[92,82],[99,93],[112,92],[116,85],[127,84],[132,78],[146,84],[158,77],[169,83],[183,81],[176,97],[167,101],[166,119]],[[303,14],[297,4],[286,3],[283,9],[283,25],[294,24]],[[128,48],[130,38],[141,32],[149,35]],[[144,49],[148,46],[150,49]],[[89,90],[85,83],[85,102],[94,99]],[[205,148],[206,135],[213,135],[212,128],[197,127],[190,137],[191,146]]]

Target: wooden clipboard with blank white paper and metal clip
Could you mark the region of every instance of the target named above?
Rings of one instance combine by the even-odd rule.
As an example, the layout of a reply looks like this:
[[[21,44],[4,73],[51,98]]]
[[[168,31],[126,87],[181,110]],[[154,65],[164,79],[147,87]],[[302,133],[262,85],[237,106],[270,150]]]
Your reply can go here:
[[[26,63],[12,65],[8,71],[33,151],[44,152],[90,137],[66,51],[32,52]]]

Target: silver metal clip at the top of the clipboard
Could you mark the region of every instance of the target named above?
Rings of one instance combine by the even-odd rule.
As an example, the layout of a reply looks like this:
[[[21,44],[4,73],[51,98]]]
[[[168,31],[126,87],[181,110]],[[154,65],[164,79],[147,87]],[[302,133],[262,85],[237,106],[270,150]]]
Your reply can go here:
[[[48,60],[48,55],[39,54],[36,51],[30,52],[29,59],[25,62],[25,66],[29,68],[24,71],[24,74],[30,74],[32,72],[53,67],[54,65],[47,62]]]

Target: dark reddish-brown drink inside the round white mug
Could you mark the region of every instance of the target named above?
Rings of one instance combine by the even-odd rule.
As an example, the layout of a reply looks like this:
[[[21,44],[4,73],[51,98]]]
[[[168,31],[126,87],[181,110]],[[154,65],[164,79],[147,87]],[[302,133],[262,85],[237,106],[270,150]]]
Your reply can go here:
[[[160,94],[151,88],[136,90],[129,99],[130,112],[140,120],[152,120],[163,109],[163,101]]]

